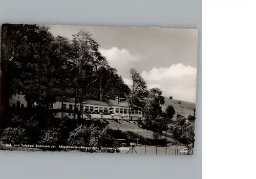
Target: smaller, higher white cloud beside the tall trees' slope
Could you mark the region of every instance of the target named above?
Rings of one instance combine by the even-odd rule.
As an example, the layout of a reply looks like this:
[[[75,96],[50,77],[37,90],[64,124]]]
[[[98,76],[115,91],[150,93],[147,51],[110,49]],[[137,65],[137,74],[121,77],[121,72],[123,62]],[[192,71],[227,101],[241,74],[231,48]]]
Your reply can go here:
[[[134,64],[142,60],[141,56],[138,54],[131,54],[129,50],[117,47],[112,47],[109,49],[99,49],[100,53],[106,58],[109,64],[118,69],[129,68],[129,65]]]

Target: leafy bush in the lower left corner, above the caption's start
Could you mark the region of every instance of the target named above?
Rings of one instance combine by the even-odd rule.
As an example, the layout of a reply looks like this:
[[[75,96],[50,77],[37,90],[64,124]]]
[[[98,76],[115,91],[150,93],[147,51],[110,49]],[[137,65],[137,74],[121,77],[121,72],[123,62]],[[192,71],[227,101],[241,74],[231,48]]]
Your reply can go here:
[[[27,144],[28,137],[23,127],[7,127],[1,135],[1,141],[8,144]]]

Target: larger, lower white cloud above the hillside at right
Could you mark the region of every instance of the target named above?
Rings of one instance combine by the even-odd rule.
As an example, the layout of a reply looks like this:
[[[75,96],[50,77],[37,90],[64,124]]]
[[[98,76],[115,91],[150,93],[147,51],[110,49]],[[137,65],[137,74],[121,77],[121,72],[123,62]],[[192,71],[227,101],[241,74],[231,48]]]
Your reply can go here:
[[[174,99],[196,102],[197,69],[183,64],[172,65],[169,68],[152,68],[142,71],[141,76],[147,82],[148,89],[158,87],[165,96]],[[131,85],[130,79],[124,83]]]

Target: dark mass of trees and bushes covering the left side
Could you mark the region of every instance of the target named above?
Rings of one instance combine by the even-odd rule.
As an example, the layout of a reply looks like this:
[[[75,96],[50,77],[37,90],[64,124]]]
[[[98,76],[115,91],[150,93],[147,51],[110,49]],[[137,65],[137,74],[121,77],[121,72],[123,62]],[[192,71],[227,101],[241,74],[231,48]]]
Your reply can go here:
[[[79,140],[74,133],[82,126],[83,130],[90,129],[95,133],[94,137],[100,135],[100,139],[112,141],[106,124],[100,120],[82,122],[78,110],[73,111],[77,114],[73,120],[64,116],[55,118],[50,109],[57,98],[62,101],[75,98],[76,107],[86,99],[108,100],[114,99],[117,93],[121,97],[130,93],[129,87],[116,69],[109,66],[98,47],[98,42],[85,31],[69,40],[54,37],[49,27],[41,25],[3,24],[1,86],[8,90],[4,91],[6,97],[1,106],[9,106],[11,95],[24,94],[27,108],[15,111],[1,108],[1,113],[4,113],[1,139],[12,143],[66,145],[70,143],[71,135],[73,141]],[[92,142],[102,143],[99,139],[88,140],[90,145],[94,145]]]

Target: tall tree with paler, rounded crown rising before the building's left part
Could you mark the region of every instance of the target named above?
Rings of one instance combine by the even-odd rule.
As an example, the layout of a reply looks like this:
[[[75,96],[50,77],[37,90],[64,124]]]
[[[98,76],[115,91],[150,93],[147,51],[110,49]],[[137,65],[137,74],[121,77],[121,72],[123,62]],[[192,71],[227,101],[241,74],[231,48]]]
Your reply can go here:
[[[98,52],[99,44],[92,38],[92,35],[88,31],[79,31],[73,35],[72,39],[72,79],[73,88],[75,92],[75,111],[77,111],[77,103],[82,101],[85,97],[80,93],[81,89],[88,88],[89,85],[96,82],[97,76],[93,71],[96,71],[98,65],[104,58]],[[88,72],[90,72],[88,74]],[[90,78],[88,78],[90,76]],[[74,112],[74,119],[76,118]]]

